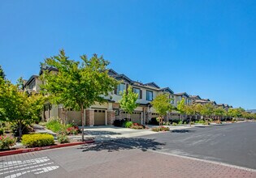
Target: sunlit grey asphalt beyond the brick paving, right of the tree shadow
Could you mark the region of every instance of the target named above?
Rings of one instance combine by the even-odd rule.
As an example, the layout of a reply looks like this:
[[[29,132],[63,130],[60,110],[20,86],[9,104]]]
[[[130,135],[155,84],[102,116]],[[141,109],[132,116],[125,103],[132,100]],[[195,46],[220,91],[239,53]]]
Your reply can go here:
[[[256,169],[256,122],[213,125],[154,134],[160,151]]]

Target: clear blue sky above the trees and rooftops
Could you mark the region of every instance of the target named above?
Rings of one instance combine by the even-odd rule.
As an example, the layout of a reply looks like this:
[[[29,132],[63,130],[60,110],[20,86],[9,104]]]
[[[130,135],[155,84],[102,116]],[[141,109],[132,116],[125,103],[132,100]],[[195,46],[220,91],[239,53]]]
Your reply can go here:
[[[65,49],[175,92],[256,108],[256,1],[8,0],[0,65],[13,83]]]

